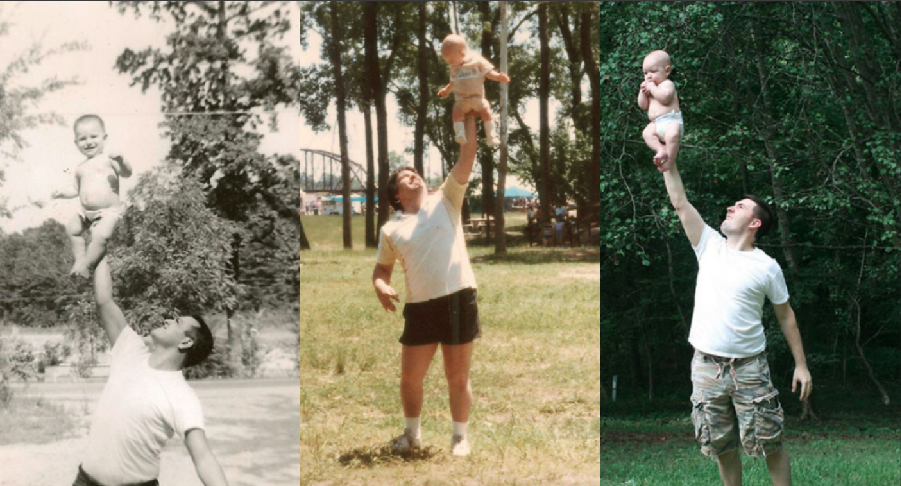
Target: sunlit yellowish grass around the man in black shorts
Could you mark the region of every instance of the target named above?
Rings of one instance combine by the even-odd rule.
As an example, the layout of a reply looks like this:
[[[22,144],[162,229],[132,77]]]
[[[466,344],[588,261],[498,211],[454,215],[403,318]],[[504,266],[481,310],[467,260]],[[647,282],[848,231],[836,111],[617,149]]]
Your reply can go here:
[[[424,449],[396,456],[386,446],[403,428],[402,317],[375,298],[375,251],[341,250],[340,219],[315,219],[304,219],[314,249],[301,255],[301,484],[598,484],[597,250],[517,247],[497,258],[493,247],[470,248],[483,331],[472,369],[473,454],[449,454],[436,357],[425,380]],[[400,266],[393,284],[403,295]]]

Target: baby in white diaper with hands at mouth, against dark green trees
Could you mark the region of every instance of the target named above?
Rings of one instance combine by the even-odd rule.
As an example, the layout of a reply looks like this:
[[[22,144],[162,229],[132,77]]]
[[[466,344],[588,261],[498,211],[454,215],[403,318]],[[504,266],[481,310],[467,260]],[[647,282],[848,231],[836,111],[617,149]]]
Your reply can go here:
[[[679,111],[679,97],[676,85],[669,80],[669,54],[654,51],[642,63],[644,81],[638,91],[638,106],[648,110],[651,123],[642,132],[645,143],[656,154],[654,163],[661,172],[672,168],[679,153],[679,142],[684,134],[682,112]]]

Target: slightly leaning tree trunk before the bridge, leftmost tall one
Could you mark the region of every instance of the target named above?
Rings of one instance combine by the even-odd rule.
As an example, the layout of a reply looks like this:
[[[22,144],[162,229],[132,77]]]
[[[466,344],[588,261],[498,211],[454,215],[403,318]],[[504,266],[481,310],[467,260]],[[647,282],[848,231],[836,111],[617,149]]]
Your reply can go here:
[[[329,2],[332,18],[332,41],[329,48],[331,53],[332,69],[335,73],[335,94],[337,99],[335,104],[338,111],[338,145],[341,149],[341,195],[344,223],[344,249],[353,249],[353,226],[351,226],[351,218],[353,217],[353,201],[350,200],[350,160],[347,156],[347,119],[346,109],[347,101],[344,96],[344,73],[341,68],[341,26],[338,25],[338,2],[332,0]]]

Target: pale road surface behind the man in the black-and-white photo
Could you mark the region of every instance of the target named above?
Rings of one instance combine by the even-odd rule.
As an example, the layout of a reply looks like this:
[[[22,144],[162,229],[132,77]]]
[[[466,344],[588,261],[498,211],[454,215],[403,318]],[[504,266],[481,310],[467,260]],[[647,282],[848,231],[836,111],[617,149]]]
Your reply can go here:
[[[292,379],[191,382],[207,437],[229,484],[296,486],[300,482],[300,382]],[[0,486],[68,485],[86,447],[89,415],[103,383],[37,383],[20,393],[63,404],[81,417],[74,434],[46,444],[0,446]],[[202,486],[181,440],[163,451],[160,483]]]

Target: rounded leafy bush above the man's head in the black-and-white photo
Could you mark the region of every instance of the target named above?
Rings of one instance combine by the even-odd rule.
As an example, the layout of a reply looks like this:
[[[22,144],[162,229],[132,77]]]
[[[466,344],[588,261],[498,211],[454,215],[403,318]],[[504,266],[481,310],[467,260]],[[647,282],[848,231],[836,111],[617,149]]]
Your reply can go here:
[[[230,259],[237,229],[207,207],[203,185],[161,167],[141,176],[133,197],[115,238],[112,274],[135,330],[151,330],[167,311],[236,308],[240,287]]]

